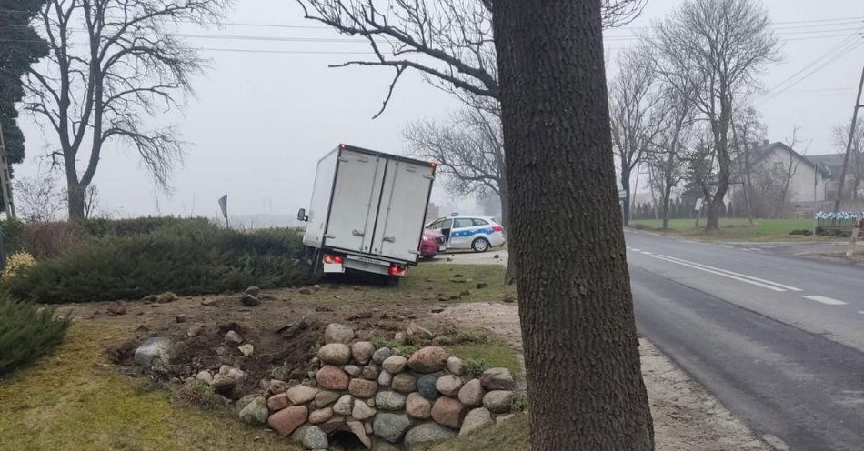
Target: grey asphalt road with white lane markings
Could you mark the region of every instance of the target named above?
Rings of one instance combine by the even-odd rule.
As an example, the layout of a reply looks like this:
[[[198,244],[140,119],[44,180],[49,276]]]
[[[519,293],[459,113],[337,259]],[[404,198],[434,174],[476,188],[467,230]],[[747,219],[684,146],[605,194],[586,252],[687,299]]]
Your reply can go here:
[[[639,332],[779,448],[864,450],[864,268],[628,232]]]

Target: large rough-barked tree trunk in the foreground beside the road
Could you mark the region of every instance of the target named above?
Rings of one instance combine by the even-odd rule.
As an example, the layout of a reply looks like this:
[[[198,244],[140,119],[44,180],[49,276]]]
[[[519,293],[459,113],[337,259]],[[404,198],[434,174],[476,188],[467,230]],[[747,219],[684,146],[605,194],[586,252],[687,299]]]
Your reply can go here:
[[[600,0],[490,3],[531,446],[651,450],[618,217]]]

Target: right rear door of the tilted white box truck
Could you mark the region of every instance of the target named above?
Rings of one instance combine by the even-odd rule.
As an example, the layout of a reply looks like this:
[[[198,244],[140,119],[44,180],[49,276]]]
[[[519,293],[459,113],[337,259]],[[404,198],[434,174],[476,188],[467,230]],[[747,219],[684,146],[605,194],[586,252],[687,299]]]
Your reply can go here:
[[[392,159],[387,164],[372,253],[417,261],[435,168]]]

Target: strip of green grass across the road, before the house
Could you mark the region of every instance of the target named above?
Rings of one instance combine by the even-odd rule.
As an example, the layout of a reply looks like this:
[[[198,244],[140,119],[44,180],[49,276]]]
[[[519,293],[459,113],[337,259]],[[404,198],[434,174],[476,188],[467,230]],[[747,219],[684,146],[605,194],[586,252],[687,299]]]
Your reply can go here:
[[[670,219],[669,233],[683,236],[705,237],[729,241],[779,241],[779,240],[812,240],[814,236],[789,236],[792,230],[812,230],[812,219],[754,219],[751,226],[746,218],[720,219],[720,230],[714,233],[705,232],[705,218],[699,221],[696,228],[695,219]],[[630,221],[630,226],[658,230],[663,221],[643,219]],[[824,239],[824,238],[819,238]]]

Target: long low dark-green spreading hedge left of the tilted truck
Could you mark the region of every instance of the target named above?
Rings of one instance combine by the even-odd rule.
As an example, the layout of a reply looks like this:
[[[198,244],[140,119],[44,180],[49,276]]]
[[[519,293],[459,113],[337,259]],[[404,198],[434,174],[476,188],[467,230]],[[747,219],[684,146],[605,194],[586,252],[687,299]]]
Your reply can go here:
[[[114,227],[123,232],[86,239],[38,263],[9,280],[10,293],[51,304],[306,283],[306,266],[295,263],[304,253],[296,229],[241,232],[188,220],[150,233],[132,229]]]

